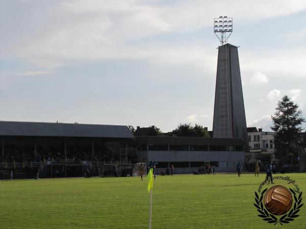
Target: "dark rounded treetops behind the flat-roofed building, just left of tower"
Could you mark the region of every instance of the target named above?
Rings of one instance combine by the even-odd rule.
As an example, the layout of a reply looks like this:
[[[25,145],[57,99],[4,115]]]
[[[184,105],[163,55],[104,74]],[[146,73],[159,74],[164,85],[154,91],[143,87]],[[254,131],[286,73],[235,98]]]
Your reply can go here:
[[[172,130],[172,134],[182,137],[209,137],[208,131],[201,125],[191,123],[179,124],[176,129]]]

